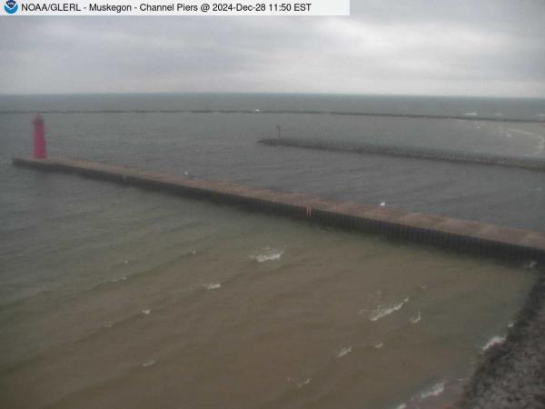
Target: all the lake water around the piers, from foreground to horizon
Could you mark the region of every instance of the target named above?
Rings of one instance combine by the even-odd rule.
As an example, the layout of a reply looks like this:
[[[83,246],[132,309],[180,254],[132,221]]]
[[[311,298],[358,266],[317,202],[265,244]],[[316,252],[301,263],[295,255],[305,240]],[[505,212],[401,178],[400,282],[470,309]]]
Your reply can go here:
[[[280,107],[291,112],[266,112]],[[349,110],[537,121],[331,114]],[[545,157],[540,100],[2,96],[0,111],[5,407],[432,407],[460,394],[534,280],[524,265],[10,160],[31,151],[29,112],[48,111],[50,155],[544,232],[542,173],[256,144],[282,125],[286,136]]]

